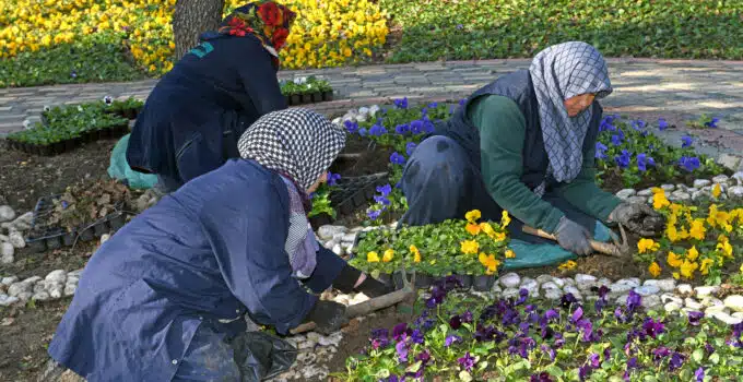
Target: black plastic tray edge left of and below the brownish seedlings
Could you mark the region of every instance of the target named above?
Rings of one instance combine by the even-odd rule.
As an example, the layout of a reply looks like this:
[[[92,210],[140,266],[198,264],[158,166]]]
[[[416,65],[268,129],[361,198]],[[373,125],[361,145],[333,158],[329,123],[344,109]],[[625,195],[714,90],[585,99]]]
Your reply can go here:
[[[126,224],[126,213],[116,211],[92,224],[86,224],[68,231],[61,227],[50,226],[48,219],[54,208],[54,200],[60,195],[45,196],[36,202],[34,217],[30,232],[33,236],[26,238],[26,244],[34,252],[43,252],[62,247],[72,247],[78,240],[92,241],[109,231],[116,231]]]

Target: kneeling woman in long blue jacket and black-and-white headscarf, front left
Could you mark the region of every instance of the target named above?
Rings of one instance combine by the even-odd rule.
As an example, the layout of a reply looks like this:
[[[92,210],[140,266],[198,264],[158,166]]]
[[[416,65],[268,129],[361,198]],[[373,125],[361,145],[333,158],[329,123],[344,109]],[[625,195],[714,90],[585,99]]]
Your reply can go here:
[[[280,334],[307,321],[338,330],[345,308],[305,287],[388,291],[318,246],[307,223],[307,195],[344,145],[315,111],[261,117],[238,142],[241,159],[189,181],[98,249],[51,358],[89,381],[233,381],[240,361],[229,343],[246,331],[244,314]]]

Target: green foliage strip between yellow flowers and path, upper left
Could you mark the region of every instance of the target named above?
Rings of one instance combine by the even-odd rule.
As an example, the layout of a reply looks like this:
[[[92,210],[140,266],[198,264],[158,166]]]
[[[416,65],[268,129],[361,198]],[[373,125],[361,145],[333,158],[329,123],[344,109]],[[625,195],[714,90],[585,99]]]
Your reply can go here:
[[[143,79],[125,55],[118,35],[81,37],[0,60],[0,88]]]

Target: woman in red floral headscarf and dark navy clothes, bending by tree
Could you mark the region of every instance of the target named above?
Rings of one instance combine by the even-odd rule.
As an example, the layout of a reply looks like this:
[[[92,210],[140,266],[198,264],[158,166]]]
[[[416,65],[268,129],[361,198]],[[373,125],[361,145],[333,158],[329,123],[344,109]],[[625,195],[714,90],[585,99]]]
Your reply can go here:
[[[202,34],[150,94],[129,139],[129,166],[156,174],[168,193],[239,157],[245,129],[287,107],[276,73],[295,19],[284,5],[258,1]]]

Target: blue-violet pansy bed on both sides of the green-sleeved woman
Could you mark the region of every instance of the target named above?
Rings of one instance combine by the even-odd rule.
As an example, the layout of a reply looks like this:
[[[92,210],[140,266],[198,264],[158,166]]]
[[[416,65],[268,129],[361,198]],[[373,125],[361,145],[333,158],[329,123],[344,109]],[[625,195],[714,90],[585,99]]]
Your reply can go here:
[[[460,100],[459,105],[462,105]],[[429,104],[409,107],[408,99],[396,99],[391,107],[357,120],[346,116],[343,122],[351,134],[394,150],[390,156],[391,188],[379,190],[377,204],[368,211],[371,222],[394,218],[408,208],[399,189],[402,169],[421,139],[455,112],[456,106]],[[668,128],[660,119],[659,130]],[[691,140],[691,138],[687,138]],[[686,141],[685,141],[686,142]],[[597,182],[611,191],[624,187],[654,186],[663,182],[691,182],[695,178],[729,172],[713,159],[694,152],[692,142],[677,148],[663,143],[646,121],[605,116],[595,145]]]

